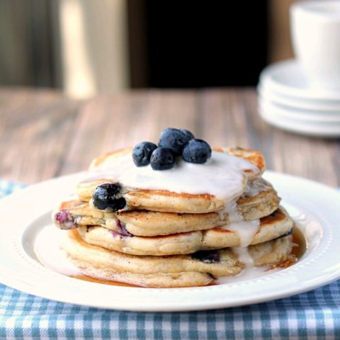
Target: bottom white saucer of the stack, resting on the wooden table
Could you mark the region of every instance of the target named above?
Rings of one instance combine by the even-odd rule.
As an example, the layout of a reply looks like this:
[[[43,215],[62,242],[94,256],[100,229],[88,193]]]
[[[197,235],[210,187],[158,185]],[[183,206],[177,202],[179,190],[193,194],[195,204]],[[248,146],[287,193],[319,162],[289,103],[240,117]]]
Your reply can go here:
[[[275,107],[259,104],[259,114],[267,123],[290,132],[314,137],[340,137],[340,123],[310,121],[304,118],[288,117],[287,113]]]

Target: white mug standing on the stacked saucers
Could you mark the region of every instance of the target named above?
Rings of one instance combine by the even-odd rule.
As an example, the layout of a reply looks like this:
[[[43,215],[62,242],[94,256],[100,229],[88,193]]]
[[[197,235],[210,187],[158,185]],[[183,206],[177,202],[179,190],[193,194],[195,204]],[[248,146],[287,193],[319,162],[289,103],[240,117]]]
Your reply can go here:
[[[340,90],[340,1],[302,1],[290,7],[290,28],[297,60],[310,85]]]

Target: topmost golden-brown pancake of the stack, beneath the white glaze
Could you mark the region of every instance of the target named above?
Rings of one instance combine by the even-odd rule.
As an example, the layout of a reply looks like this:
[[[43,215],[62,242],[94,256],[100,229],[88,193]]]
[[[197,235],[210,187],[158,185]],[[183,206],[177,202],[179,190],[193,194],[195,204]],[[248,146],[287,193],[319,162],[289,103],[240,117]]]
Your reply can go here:
[[[249,169],[245,168],[240,173],[243,179],[239,192],[237,192],[237,197],[244,192],[247,183],[261,176],[266,168],[263,155],[256,150],[242,148],[218,148],[214,150],[215,152],[225,152],[249,162]],[[110,152],[94,159],[90,166],[90,170],[94,170],[94,176],[91,179],[79,183],[77,186],[77,194],[81,200],[91,200],[94,190],[102,183],[116,183],[118,181],[117,179],[110,179],[106,177],[105,174],[103,174],[101,178],[101,172],[95,171],[101,169],[101,167],[105,168],[106,166],[110,166],[110,164],[114,164],[119,157],[126,157],[129,154],[132,154],[132,149]],[[192,165],[196,166],[196,164]],[[200,169],[204,171],[203,168]],[[155,171],[155,173],[156,172],[157,171]],[[168,190],[128,187],[123,187],[122,192],[127,203],[125,210],[138,209],[159,212],[204,213],[222,210],[226,204],[224,198],[216,197],[212,193],[179,193]]]

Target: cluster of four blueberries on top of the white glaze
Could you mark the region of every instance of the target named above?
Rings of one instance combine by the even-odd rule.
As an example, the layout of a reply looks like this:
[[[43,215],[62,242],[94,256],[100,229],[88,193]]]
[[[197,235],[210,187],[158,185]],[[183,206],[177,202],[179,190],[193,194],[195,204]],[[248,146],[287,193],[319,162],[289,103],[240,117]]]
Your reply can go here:
[[[159,137],[158,147],[152,142],[141,142],[132,151],[136,166],[150,164],[154,170],[171,169],[177,157],[189,163],[203,164],[211,157],[211,148],[188,130],[167,128]]]

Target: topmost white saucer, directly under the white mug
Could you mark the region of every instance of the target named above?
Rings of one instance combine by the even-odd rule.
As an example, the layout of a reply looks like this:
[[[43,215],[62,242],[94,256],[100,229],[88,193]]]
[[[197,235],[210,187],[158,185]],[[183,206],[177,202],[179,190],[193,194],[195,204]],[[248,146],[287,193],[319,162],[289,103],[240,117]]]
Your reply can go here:
[[[340,101],[340,91],[310,88],[307,77],[296,60],[277,62],[263,69],[260,83],[278,94],[319,101]]]

